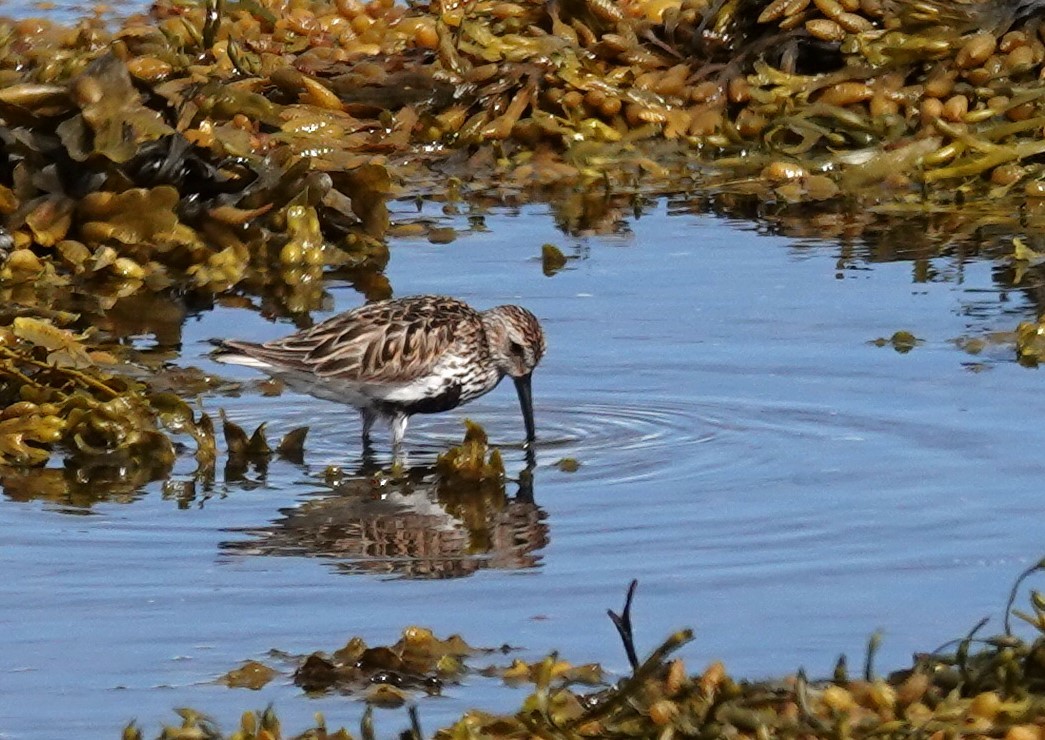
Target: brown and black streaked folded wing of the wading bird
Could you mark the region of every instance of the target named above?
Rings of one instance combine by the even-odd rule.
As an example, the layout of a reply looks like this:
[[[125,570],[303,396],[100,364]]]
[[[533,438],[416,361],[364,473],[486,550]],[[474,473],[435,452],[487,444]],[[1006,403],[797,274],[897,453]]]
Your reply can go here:
[[[262,345],[226,346],[320,377],[401,384],[428,374],[455,344],[481,330],[482,319],[468,305],[421,296],[361,306]]]

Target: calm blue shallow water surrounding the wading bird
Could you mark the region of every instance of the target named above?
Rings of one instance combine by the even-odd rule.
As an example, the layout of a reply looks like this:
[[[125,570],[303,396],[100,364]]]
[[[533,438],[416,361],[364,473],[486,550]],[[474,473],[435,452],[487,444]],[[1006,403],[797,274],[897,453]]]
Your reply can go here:
[[[413,208],[396,206],[401,217]],[[518,302],[540,317],[532,491],[512,482],[509,500],[461,502],[423,480],[378,500],[350,482],[331,490],[327,466],[364,462],[355,413],[262,396],[253,371],[206,357],[208,338],[293,327],[245,309],[191,314],[178,363],[245,384],[204,408],[248,430],[269,421],[275,435],[309,425],[304,464],[275,460],[233,481],[219,471],[211,490],[189,493],[153,483],[46,500],[8,480],[0,737],[111,738],[133,717],[155,732],[181,706],[228,727],[270,701],[288,730],[316,711],[354,727],[358,701],[306,698],[269,651],[332,650],[353,634],[390,643],[409,624],[624,671],[605,609],[621,607],[631,578],[641,652],[692,626],[692,669],[722,658],[744,677],[823,675],[842,652],[859,666],[881,629],[888,670],[999,617],[1015,576],[1043,554],[1041,371],[1011,348],[972,356],[953,342],[1036,313],[1029,294],[996,282],[993,261],[903,245],[881,261],[881,244],[769,235],[777,229],[684,199],[619,214],[609,235],[565,235],[558,206],[491,207],[481,219],[443,210],[426,204],[423,215],[460,238],[393,239],[388,276],[396,295]],[[544,242],[572,256],[551,277]],[[362,302],[344,283],[328,290],[317,319]],[[870,343],[899,329],[923,343],[908,353]],[[508,384],[415,417],[411,464],[459,441],[465,417],[517,477]],[[386,447],[379,437],[378,464]],[[560,470],[562,458],[579,469]],[[193,468],[181,462],[176,481]],[[487,526],[469,530],[477,515]],[[247,658],[284,675],[256,693],[215,683]],[[431,731],[521,697],[477,678],[419,704]],[[407,724],[402,711],[377,721],[386,733]]]

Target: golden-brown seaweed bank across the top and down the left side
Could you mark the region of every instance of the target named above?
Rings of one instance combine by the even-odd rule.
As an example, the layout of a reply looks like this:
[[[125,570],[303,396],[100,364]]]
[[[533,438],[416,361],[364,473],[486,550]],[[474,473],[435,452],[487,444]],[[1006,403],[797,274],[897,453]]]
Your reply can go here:
[[[70,441],[169,458],[144,386],[101,391],[162,362],[113,331],[118,304],[307,325],[324,280],[388,297],[388,199],[447,183],[501,199],[580,183],[636,213],[643,194],[695,189],[785,218],[813,205],[796,216],[821,235],[874,228],[867,203],[878,217],[977,199],[966,228],[1040,231],[1043,28],[1037,3],[932,0],[210,0],[116,26],[0,21],[0,295],[20,322],[0,324],[0,401],[51,404],[9,412],[2,458],[41,464]],[[566,264],[543,250],[547,275]],[[1021,361],[1041,332],[1018,327]],[[30,373],[23,397],[45,351],[69,370]],[[72,371],[129,421],[102,412],[77,437]]]

